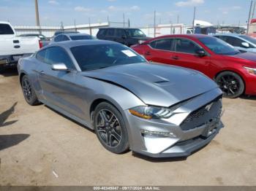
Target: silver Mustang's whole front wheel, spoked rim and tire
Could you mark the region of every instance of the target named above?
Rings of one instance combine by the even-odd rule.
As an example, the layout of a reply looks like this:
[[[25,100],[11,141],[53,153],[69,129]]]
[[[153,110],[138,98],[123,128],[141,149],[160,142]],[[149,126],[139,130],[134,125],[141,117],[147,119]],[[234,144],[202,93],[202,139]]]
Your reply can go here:
[[[124,119],[113,105],[102,102],[96,107],[94,129],[102,146],[110,152],[119,154],[129,149]]]

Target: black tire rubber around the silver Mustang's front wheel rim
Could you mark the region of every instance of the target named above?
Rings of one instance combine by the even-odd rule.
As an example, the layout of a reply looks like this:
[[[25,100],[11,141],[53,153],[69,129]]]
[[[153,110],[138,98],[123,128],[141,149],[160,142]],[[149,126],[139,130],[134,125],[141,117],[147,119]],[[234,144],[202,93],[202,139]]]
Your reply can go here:
[[[97,117],[97,114],[99,113],[99,111],[102,109],[108,109],[110,112],[113,112],[113,114],[116,115],[116,117],[118,118],[118,121],[120,122],[121,141],[117,147],[108,147],[108,145],[106,145],[105,142],[101,139],[99,132],[97,131],[96,117]],[[105,147],[105,149],[108,149],[110,152],[120,154],[120,153],[126,152],[129,149],[128,132],[127,132],[127,128],[126,128],[126,125],[124,122],[124,118],[122,117],[122,115],[118,111],[118,109],[116,109],[116,107],[113,106],[112,104],[108,104],[108,102],[102,102],[101,104],[99,104],[96,107],[96,109],[94,111],[94,129],[95,129],[95,133],[97,134],[97,138],[99,139],[102,146]]]

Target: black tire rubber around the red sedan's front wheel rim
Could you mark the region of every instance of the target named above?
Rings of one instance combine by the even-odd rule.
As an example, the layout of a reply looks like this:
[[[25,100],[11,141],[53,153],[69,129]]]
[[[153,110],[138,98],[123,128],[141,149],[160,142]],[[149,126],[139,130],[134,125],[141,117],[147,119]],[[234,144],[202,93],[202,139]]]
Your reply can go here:
[[[239,82],[240,87],[239,87],[239,90],[238,90],[238,92],[236,94],[234,94],[234,95],[225,95],[225,94],[223,94],[223,97],[225,97],[225,98],[238,98],[240,95],[242,95],[244,93],[245,86],[244,86],[243,79],[238,74],[236,74],[233,71],[223,71],[222,73],[220,73],[216,77],[215,82],[218,82],[219,79],[221,77],[225,76],[225,75],[233,75],[233,77],[236,77],[236,79]]]

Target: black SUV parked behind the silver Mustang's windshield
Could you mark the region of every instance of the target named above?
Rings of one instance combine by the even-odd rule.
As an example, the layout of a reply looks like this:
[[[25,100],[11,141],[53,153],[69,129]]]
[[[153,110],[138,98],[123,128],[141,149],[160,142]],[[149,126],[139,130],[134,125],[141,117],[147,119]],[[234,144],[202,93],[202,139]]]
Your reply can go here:
[[[150,39],[138,28],[99,28],[97,39],[110,40],[128,47]]]

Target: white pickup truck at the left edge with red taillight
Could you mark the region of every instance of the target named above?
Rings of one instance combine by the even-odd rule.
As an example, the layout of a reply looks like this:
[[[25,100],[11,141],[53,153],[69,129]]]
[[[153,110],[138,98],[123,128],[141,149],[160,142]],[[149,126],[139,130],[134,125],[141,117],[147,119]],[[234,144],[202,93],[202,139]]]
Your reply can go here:
[[[38,37],[16,36],[10,23],[0,22],[0,70],[17,66],[18,60],[42,47]]]

